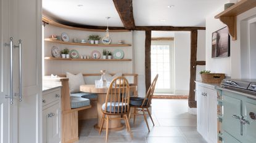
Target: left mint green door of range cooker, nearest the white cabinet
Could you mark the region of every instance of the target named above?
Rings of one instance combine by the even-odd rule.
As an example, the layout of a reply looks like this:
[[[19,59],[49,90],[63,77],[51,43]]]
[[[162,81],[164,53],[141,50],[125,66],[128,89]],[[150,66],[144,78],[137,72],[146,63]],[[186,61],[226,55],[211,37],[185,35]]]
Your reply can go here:
[[[232,136],[241,138],[242,125],[239,118],[242,117],[242,101],[232,98],[232,93],[229,96],[223,95],[223,130]],[[234,118],[234,116],[239,118]]]

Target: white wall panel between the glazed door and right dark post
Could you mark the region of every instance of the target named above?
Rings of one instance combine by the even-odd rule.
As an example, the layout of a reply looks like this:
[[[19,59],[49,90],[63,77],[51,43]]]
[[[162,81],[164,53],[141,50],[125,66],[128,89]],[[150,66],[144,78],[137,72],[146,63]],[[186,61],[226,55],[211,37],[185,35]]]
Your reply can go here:
[[[176,32],[175,53],[175,94],[188,95],[190,78],[190,32]]]

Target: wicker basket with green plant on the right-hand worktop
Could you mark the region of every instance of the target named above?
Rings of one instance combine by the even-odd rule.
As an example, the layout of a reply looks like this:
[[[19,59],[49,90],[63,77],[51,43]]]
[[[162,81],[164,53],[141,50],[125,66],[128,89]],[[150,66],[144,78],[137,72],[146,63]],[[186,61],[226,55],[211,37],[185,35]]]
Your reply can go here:
[[[202,70],[199,72],[202,77],[202,82],[205,83],[220,83],[225,79],[225,74],[210,73],[210,71]]]

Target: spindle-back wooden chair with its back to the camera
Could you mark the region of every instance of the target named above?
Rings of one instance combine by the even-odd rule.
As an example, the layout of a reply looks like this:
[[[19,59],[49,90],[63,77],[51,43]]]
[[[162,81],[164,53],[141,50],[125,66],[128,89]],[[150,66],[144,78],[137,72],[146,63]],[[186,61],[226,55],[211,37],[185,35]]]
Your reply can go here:
[[[133,138],[128,120],[129,102],[130,86],[128,80],[125,79],[125,77],[116,77],[110,83],[105,103],[102,105],[101,109],[102,118],[99,134],[101,134],[105,121],[107,123],[105,142],[107,142],[109,135],[109,120],[125,120],[127,131],[130,133],[131,138]],[[113,117],[114,115],[115,117]],[[117,117],[116,115],[120,116]]]

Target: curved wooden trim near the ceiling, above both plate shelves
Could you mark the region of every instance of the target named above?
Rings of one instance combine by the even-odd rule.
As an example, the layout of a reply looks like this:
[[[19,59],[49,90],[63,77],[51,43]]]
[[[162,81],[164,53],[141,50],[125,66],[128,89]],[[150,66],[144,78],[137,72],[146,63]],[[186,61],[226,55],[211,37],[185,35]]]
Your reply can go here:
[[[61,23],[58,23],[57,21],[51,20],[50,18],[46,17],[45,15],[43,15],[42,21],[44,21],[45,23],[48,23],[49,25],[57,26],[59,28],[66,28],[66,29],[73,29],[73,30],[80,30],[80,31],[105,32],[105,29],[78,28],[78,27],[74,27],[74,26],[63,25]],[[130,32],[131,30],[110,29],[109,31],[112,33],[122,33],[122,32]]]

